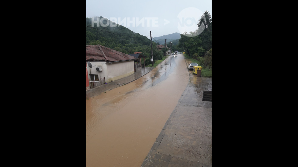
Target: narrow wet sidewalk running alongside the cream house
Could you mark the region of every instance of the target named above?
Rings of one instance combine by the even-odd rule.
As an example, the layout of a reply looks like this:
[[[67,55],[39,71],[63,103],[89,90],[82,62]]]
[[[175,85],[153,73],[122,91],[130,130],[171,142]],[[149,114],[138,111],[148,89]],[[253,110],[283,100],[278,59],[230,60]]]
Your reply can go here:
[[[96,86],[95,88],[90,89],[89,91],[86,91],[86,99],[100,95],[102,92],[106,92],[111,89],[115,89],[118,86],[128,84],[130,82],[133,82],[134,80],[137,80],[138,78],[142,77],[143,75],[146,75],[148,72],[150,72],[154,67],[144,67],[140,71],[137,71],[133,73],[132,75],[129,75],[127,77],[115,80],[114,82],[110,82],[107,84],[102,84],[99,86]]]

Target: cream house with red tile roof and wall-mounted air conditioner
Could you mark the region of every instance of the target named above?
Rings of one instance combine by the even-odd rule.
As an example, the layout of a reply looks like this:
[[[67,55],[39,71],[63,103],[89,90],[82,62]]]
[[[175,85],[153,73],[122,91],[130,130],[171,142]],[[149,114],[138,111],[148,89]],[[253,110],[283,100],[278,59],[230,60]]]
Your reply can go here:
[[[109,83],[129,76],[134,73],[136,59],[102,45],[86,45],[86,78],[89,78],[89,83],[103,82],[103,80],[103,83]],[[87,62],[89,62],[88,65]]]

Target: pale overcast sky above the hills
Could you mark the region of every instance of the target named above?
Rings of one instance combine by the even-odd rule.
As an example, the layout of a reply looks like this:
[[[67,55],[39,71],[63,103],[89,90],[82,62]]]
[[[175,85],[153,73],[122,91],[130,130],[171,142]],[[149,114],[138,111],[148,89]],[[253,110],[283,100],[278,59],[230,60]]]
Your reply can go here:
[[[212,0],[86,0],[86,17],[104,17],[152,37],[195,31]],[[108,26],[108,25],[105,25]]]

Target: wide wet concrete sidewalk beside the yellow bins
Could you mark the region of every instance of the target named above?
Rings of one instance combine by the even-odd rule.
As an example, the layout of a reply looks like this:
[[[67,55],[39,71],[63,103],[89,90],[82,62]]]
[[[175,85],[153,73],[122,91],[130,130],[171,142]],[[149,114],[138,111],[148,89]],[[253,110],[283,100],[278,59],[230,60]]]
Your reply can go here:
[[[190,74],[191,75],[191,74]],[[190,76],[190,82],[141,167],[211,167],[212,78]]]

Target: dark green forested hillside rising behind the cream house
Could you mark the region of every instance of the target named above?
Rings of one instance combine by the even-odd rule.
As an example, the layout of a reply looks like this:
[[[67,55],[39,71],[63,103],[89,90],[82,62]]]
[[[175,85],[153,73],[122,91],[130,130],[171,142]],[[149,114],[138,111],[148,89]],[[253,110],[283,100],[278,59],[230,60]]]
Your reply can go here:
[[[99,18],[101,19],[102,17]],[[152,64],[150,61],[150,58],[152,58],[151,41],[146,36],[134,33],[118,24],[116,26],[98,26],[95,23],[94,27],[92,27],[91,19],[86,18],[86,45],[103,45],[126,54],[142,52],[143,55],[147,56],[145,59],[146,65]],[[106,20],[109,22],[108,19]],[[152,42],[154,62],[164,56],[162,51],[157,50],[156,45],[155,42]]]

